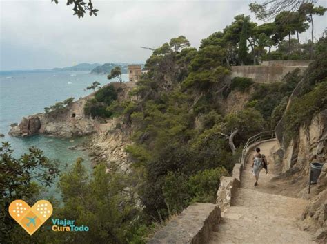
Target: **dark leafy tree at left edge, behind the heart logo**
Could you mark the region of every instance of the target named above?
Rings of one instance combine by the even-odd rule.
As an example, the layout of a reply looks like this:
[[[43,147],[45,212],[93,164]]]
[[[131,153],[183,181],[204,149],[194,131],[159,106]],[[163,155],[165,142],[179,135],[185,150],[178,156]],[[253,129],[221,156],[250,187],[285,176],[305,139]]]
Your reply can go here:
[[[58,164],[43,155],[37,148],[19,158],[8,142],[0,146],[0,242],[19,243],[28,236],[10,217],[8,208],[12,201],[22,199],[32,206],[39,200],[41,186],[51,186],[59,175]],[[28,236],[30,237],[30,236]],[[27,239],[26,239],[27,240]],[[33,241],[26,241],[33,243]],[[34,239],[34,243],[37,243]]]

